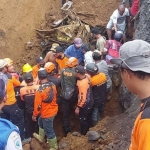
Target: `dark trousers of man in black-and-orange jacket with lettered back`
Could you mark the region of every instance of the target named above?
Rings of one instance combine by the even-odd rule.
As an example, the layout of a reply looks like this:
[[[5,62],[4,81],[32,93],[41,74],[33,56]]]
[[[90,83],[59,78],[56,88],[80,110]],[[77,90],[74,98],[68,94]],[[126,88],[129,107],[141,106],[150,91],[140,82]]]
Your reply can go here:
[[[26,127],[26,138],[33,137],[35,132],[36,122],[32,120],[32,113],[26,113],[27,127]]]

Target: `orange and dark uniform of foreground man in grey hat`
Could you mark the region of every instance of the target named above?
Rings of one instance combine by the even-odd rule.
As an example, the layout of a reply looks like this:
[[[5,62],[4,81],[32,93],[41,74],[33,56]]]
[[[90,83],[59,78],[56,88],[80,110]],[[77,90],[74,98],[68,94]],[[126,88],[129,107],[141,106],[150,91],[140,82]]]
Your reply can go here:
[[[147,102],[150,102],[150,97],[142,100],[142,107]],[[129,150],[150,150],[150,107],[141,111],[136,118]]]

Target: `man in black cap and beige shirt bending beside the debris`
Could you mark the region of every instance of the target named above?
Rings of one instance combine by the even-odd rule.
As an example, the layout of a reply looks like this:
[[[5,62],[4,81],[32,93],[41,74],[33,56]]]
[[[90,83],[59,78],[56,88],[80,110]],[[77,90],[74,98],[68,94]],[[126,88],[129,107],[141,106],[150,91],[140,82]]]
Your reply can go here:
[[[106,44],[106,39],[100,34],[100,31],[97,27],[94,27],[91,33],[93,34],[93,37],[97,40],[96,49],[100,52],[103,52]]]

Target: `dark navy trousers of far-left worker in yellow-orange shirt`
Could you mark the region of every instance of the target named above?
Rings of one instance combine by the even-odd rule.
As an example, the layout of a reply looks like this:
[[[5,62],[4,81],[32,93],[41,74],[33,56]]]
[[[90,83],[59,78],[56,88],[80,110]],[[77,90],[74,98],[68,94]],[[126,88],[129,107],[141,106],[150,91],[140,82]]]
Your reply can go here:
[[[2,108],[2,113],[0,114],[2,118],[10,120],[14,125],[19,128],[21,140],[24,139],[24,118],[22,111],[19,109],[17,103],[13,105],[5,105]]]

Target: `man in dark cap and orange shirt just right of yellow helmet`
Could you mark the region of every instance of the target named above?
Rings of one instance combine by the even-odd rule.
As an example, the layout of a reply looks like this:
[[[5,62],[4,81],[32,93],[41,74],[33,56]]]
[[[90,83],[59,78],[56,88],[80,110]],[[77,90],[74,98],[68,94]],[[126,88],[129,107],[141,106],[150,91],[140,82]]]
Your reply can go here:
[[[37,57],[36,63],[37,64],[35,66],[33,66],[33,68],[32,68],[32,75],[33,75],[34,79],[37,78],[37,76],[38,76],[38,70],[40,68],[44,68],[45,62],[44,62],[43,57]]]

